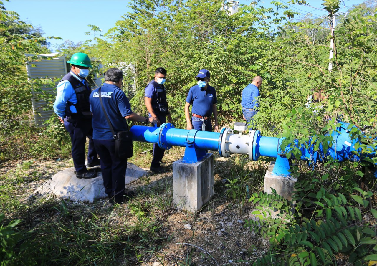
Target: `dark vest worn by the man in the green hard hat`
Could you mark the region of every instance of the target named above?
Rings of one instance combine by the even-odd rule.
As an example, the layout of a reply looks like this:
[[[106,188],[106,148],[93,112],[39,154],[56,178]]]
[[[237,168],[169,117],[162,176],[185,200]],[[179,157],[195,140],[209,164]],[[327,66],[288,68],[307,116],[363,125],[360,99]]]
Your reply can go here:
[[[92,92],[90,87],[85,82],[85,85],[77,80],[70,73],[66,74],[60,81],[68,80],[75,90],[77,97],[77,103],[71,103],[67,101],[66,104],[66,117],[72,117],[73,119],[88,119],[92,118],[92,113],[90,112],[89,96]],[[69,106],[75,106],[77,113],[72,113],[69,109]]]

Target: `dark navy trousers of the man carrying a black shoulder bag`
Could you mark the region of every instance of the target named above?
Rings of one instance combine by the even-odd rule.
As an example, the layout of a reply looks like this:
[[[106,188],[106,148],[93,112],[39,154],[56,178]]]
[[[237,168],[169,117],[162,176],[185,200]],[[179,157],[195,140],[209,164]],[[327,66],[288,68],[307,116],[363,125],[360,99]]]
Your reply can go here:
[[[115,154],[115,140],[94,140],[100,155],[100,164],[105,193],[109,197],[123,195],[126,188],[127,158]]]

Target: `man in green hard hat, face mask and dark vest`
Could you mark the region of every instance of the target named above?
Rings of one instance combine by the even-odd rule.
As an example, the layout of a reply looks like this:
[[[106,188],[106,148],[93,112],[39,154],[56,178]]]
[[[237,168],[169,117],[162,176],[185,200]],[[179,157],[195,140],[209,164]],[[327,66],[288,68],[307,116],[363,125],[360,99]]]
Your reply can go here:
[[[92,90],[85,79],[92,67],[87,54],[76,53],[67,61],[71,69],[56,86],[57,95],[54,111],[69,132],[72,143],[72,159],[77,178],[93,178],[96,172],[89,172],[85,166],[85,143],[89,138],[87,166],[100,164],[95,151],[92,135],[92,112],[90,112],[89,95]]]

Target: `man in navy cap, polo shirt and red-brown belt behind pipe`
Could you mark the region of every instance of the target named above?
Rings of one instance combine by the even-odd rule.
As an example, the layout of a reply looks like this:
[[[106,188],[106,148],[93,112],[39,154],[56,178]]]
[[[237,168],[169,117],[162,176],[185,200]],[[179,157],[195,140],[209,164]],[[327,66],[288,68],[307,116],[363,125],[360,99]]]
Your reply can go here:
[[[208,85],[210,72],[201,69],[196,76],[198,85],[190,88],[185,103],[185,117],[187,129],[199,129],[212,131],[211,115],[215,118],[215,132],[219,131],[217,121],[217,98],[215,88]],[[190,118],[189,107],[192,105],[192,117]]]

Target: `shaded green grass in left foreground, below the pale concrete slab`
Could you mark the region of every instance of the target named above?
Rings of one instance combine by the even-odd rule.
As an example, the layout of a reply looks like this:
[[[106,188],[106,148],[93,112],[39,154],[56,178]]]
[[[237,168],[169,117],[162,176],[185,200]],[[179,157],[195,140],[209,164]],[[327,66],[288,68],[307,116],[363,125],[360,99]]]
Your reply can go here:
[[[13,253],[0,253],[0,260],[11,255],[7,265],[136,263],[164,240],[159,235],[164,222],[153,210],[171,208],[172,197],[165,195],[170,192],[163,191],[170,186],[153,191],[150,202],[142,203],[141,194],[127,206],[112,207],[103,201],[75,204],[55,197],[26,200],[23,187],[36,179],[33,172],[26,172],[29,166],[28,162],[18,166],[0,181],[0,213],[5,213],[0,226],[20,219],[11,235],[17,239]]]

